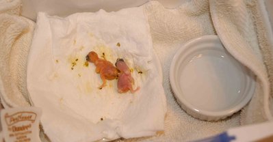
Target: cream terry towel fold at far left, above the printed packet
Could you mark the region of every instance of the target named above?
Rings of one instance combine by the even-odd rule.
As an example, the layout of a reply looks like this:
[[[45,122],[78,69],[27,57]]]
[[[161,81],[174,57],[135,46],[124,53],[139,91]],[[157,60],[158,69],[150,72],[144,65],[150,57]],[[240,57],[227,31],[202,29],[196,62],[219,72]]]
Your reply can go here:
[[[20,12],[21,1],[0,1],[0,94],[5,107],[30,105],[26,72],[34,22]]]

